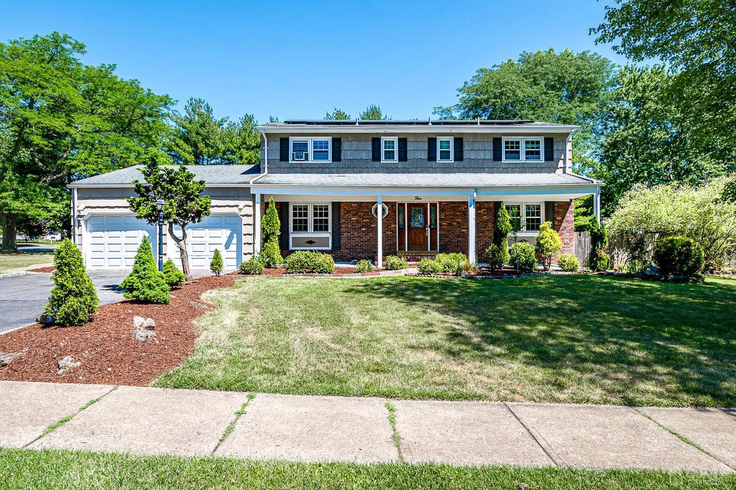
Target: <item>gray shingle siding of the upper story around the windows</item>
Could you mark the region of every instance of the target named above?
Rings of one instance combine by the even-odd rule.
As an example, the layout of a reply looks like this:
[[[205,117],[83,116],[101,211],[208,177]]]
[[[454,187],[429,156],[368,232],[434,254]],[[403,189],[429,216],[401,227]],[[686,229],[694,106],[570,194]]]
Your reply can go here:
[[[342,161],[333,163],[289,163],[279,161],[280,138],[288,138],[289,133],[269,133],[269,173],[437,173],[437,172],[492,172],[492,173],[545,173],[562,171],[565,156],[565,141],[569,133],[518,134],[496,133],[339,133],[331,134],[333,138],[342,138]],[[397,136],[407,138],[406,162],[381,163],[371,160],[371,138],[381,136]],[[427,138],[435,136],[455,136],[463,138],[464,159],[461,162],[442,163],[427,161]],[[551,162],[514,162],[503,163],[493,161],[493,138],[512,136],[539,136],[553,138],[554,160]],[[261,143],[261,146],[262,143]],[[263,166],[263,157],[261,157]]]

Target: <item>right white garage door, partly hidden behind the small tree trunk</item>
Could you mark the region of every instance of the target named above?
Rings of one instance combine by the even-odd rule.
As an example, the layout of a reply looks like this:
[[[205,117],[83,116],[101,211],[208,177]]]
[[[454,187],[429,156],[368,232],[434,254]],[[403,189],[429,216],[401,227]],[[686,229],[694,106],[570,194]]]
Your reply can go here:
[[[237,215],[213,215],[203,219],[201,223],[186,227],[186,248],[189,255],[189,266],[192,270],[206,271],[210,269],[210,260],[216,249],[222,254],[222,268],[234,271],[240,266],[243,257],[241,244],[243,220]],[[174,226],[174,231],[177,227]],[[177,233],[180,236],[180,233]],[[169,258],[181,268],[179,249],[169,239]]]

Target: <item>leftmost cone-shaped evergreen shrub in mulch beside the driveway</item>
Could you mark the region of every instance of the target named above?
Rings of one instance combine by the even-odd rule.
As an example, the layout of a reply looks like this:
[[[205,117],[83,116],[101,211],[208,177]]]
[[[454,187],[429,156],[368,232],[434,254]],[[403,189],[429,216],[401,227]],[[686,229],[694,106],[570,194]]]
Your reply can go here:
[[[81,325],[97,313],[99,298],[82,253],[68,238],[54,250],[54,287],[43,314],[60,325]]]

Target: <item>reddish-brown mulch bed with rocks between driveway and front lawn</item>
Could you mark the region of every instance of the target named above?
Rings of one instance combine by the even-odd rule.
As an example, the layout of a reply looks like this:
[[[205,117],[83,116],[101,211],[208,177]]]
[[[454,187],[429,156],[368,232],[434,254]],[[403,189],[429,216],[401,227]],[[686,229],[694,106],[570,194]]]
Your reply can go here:
[[[0,335],[0,352],[21,353],[0,368],[0,380],[146,386],[194,352],[199,333],[193,321],[210,310],[202,293],[234,283],[233,277],[202,277],[172,289],[169,305],[125,299],[100,306],[79,327],[37,323]],[[135,340],[130,330],[136,315],[155,320],[155,339]],[[58,375],[57,362],[67,355],[82,365]]]

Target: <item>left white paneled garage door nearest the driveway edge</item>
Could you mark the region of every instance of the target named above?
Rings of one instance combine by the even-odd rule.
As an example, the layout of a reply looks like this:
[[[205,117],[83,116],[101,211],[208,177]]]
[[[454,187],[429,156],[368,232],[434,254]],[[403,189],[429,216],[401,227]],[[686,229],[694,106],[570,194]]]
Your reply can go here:
[[[85,226],[90,269],[130,269],[141,240],[148,237],[152,246],[156,243],[156,228],[135,215],[90,216]]]

